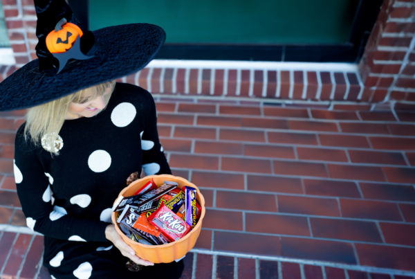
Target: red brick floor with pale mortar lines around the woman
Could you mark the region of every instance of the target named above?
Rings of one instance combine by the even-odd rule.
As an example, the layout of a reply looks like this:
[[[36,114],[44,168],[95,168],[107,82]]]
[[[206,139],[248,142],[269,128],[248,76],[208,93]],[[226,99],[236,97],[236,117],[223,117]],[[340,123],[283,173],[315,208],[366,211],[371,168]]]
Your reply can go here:
[[[266,258],[220,258],[218,265],[212,259],[226,254],[203,253],[196,257],[204,257],[203,266],[196,260],[198,269],[213,268],[220,278],[239,271],[239,278],[393,279],[398,271],[414,276],[414,111],[194,96],[155,95],[155,100],[160,142],[173,173],[196,183],[206,199],[196,249],[331,262],[348,271]],[[0,223],[13,226],[25,224],[12,179],[12,145],[23,119],[24,111],[0,113]],[[39,249],[40,236],[30,237],[28,257],[39,258],[30,247]],[[4,266],[3,251],[13,249],[19,236],[5,232],[2,239]],[[4,266],[10,273],[4,278],[19,270],[20,278],[33,278],[35,260],[14,262],[19,269]],[[244,271],[248,267],[257,268],[256,275]],[[369,277],[350,267],[387,269],[389,275]],[[187,269],[183,278],[191,273]]]

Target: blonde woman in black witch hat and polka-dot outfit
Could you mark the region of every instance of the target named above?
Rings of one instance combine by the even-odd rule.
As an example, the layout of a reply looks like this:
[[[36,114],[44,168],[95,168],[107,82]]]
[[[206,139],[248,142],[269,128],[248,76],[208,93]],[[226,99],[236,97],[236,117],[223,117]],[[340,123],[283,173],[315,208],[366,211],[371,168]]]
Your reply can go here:
[[[111,81],[142,69],[163,44],[163,30],[103,28],[54,53],[46,34],[77,21],[64,0],[35,6],[39,60],[0,83],[0,111],[32,107],[16,136],[15,179],[28,227],[44,234],[45,267],[57,279],[180,278],[183,261],[138,258],[110,223],[129,174],[171,174],[150,93]],[[70,41],[62,36],[58,43]],[[131,272],[127,260],[145,267]]]

